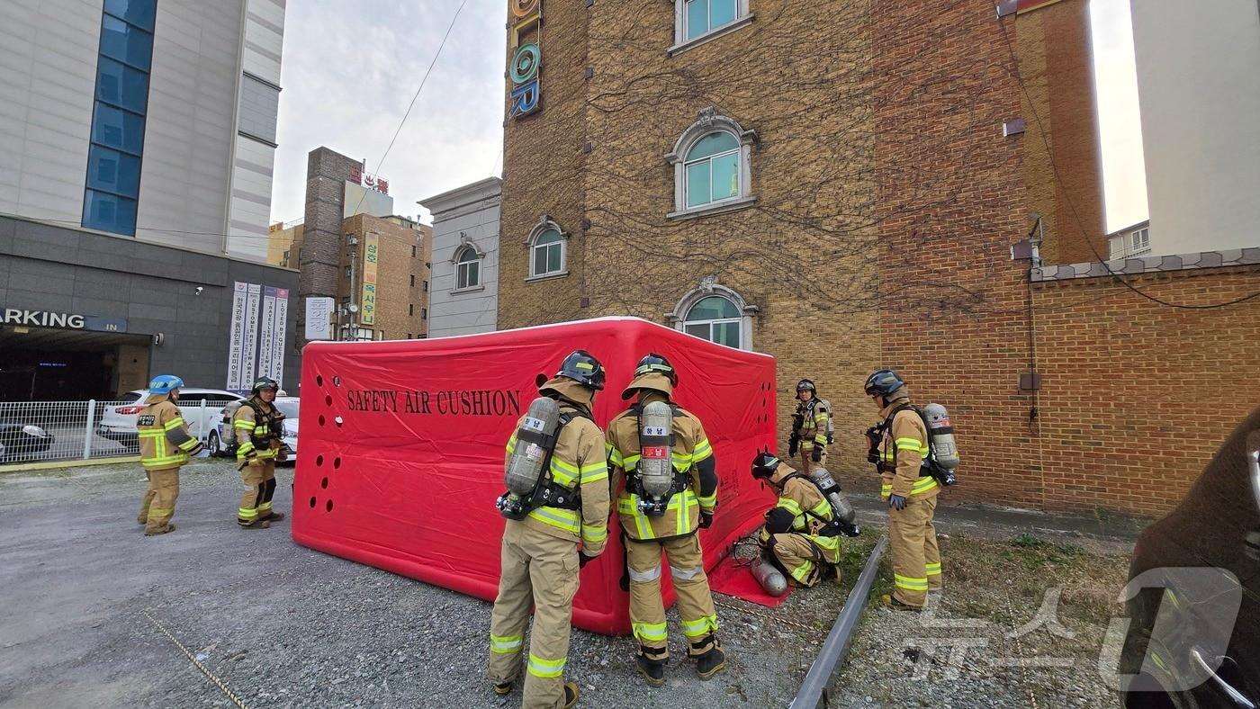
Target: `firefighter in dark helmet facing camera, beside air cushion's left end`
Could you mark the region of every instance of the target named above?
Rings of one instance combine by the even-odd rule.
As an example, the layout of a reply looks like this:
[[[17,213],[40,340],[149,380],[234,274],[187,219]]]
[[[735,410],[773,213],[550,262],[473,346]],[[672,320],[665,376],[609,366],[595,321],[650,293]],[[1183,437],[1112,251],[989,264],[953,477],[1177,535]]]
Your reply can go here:
[[[285,414],[272,402],[280,384],[262,377],[255,380],[251,395],[232,417],[237,441],[237,468],[244,491],[237,509],[237,524],[244,529],[266,529],[271,523],[285,519],[284,513],[271,509],[276,494],[276,461],[287,457],[281,442]]]

